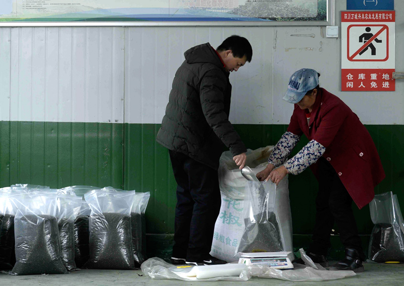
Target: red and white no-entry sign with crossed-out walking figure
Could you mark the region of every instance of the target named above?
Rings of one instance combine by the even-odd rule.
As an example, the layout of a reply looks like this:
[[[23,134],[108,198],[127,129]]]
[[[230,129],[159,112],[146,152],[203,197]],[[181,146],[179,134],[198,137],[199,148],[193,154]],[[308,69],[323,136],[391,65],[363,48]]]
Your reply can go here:
[[[341,90],[394,91],[394,11],[341,12]]]

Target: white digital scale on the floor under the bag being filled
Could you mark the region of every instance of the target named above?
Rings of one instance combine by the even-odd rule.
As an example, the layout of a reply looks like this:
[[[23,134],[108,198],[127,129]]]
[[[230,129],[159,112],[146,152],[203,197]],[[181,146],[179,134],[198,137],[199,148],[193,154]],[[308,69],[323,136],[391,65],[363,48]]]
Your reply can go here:
[[[244,253],[239,252],[240,256],[238,263],[246,265],[265,265],[276,269],[293,269],[291,252],[254,252]]]

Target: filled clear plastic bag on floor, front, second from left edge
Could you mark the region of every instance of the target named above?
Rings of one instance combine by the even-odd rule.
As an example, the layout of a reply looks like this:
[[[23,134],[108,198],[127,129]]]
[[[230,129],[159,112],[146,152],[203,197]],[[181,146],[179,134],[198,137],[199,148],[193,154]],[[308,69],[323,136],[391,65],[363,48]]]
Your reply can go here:
[[[57,214],[57,193],[37,192],[10,196],[16,207],[16,264],[11,274],[68,273],[61,259]]]

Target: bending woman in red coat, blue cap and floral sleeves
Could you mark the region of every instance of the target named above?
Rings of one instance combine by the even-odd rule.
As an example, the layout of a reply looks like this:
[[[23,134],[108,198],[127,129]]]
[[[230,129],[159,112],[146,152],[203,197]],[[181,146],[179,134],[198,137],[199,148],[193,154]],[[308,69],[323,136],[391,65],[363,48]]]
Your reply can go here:
[[[374,197],[374,187],[385,177],[376,146],[358,116],[337,96],[319,87],[315,70],[295,72],[283,99],[294,103],[293,115],[267,168],[257,178],[278,184],[287,174],[297,175],[310,166],[319,181],[319,193],[308,255],[328,266],[326,254],[335,221],[345,259],[330,269],[363,271],[365,254],[351,202],[360,209],[367,205]],[[310,142],[284,163],[302,134]]]

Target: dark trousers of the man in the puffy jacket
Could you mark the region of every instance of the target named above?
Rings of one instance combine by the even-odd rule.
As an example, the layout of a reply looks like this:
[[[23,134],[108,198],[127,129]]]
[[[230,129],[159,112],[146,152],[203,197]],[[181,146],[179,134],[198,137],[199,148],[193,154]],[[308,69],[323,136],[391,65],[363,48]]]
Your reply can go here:
[[[198,262],[208,258],[221,197],[217,170],[169,150],[175,181],[173,257]]]

